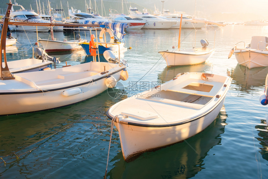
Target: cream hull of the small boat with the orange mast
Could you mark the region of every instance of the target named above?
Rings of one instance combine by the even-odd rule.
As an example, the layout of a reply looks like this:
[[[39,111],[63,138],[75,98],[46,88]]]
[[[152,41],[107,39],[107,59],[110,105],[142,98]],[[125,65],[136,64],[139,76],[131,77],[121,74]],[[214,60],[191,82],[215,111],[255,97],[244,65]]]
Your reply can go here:
[[[167,67],[178,65],[194,65],[205,62],[210,57],[215,49],[208,49],[206,51],[192,51],[187,53],[186,51],[159,51],[162,57],[165,59]]]

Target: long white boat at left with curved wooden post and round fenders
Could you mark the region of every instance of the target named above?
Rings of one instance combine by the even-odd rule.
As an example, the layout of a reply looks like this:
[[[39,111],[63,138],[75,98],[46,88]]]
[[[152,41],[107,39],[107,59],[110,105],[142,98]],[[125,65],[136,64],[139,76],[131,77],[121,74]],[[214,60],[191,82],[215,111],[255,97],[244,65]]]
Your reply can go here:
[[[7,7],[1,36],[2,51],[5,51],[5,36],[9,21]],[[92,49],[94,50],[94,49]],[[114,59],[107,56],[107,61]],[[111,61],[111,60],[109,60]],[[120,56],[114,63],[93,62],[83,63],[64,68],[44,70],[29,73],[10,73],[4,53],[5,67],[0,68],[0,115],[19,114],[46,109],[53,109],[74,104],[114,87],[116,82],[128,75],[125,70],[126,62],[122,64]],[[124,76],[124,77],[122,77]]]

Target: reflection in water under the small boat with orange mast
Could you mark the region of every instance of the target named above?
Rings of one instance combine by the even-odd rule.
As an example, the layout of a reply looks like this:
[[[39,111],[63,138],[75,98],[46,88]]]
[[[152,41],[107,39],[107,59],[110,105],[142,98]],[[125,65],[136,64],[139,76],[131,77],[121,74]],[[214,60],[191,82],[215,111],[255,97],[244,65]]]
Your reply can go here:
[[[209,72],[211,68],[210,63],[202,63],[197,65],[184,65],[184,66],[175,66],[172,68],[167,68],[158,74],[158,80],[160,82],[167,82],[173,78],[179,73],[184,72]]]

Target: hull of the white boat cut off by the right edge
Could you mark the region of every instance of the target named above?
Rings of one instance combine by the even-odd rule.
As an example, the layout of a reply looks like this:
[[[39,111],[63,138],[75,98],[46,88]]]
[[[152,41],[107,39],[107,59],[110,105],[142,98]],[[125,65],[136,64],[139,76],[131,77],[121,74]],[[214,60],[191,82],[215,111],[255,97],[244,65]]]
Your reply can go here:
[[[235,50],[234,55],[239,65],[246,66],[249,69],[268,66],[268,51],[265,50]]]

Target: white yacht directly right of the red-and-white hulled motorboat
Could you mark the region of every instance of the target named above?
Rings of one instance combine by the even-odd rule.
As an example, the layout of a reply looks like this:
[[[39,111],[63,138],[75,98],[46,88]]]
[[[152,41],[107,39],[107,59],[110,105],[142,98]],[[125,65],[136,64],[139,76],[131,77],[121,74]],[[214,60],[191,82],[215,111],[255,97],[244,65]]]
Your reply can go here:
[[[143,22],[146,22],[142,29],[169,29],[176,23],[175,21],[169,21],[163,18],[159,18],[149,13],[139,12],[136,7],[129,8],[129,17],[134,20],[141,20]]]

